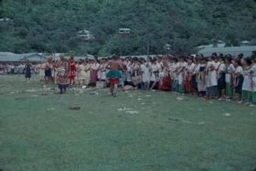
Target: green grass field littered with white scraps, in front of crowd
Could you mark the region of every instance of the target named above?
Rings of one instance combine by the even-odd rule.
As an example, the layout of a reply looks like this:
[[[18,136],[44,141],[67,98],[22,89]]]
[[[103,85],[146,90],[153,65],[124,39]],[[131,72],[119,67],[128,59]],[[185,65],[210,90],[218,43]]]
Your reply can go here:
[[[35,76],[0,79],[3,171],[256,168],[255,107],[161,91],[42,95]]]

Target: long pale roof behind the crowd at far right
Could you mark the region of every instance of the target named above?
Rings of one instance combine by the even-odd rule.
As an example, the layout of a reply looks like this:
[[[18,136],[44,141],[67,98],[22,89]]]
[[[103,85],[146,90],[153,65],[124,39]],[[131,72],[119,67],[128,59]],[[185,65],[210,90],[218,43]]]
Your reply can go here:
[[[217,54],[231,54],[237,56],[238,54],[243,54],[243,56],[251,56],[256,52],[256,46],[233,46],[233,47],[220,47],[220,48],[203,48],[198,51],[198,54],[203,54],[203,56],[211,56],[216,52]]]

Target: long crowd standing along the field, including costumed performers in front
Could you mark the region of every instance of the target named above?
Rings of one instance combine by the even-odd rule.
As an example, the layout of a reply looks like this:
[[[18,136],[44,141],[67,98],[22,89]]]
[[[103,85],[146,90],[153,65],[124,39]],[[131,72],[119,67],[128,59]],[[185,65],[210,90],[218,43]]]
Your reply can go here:
[[[31,77],[31,64],[24,67]],[[197,95],[204,99],[236,100],[256,105],[256,58],[213,53],[210,57],[156,56],[74,60],[74,56],[37,66],[45,84],[55,82],[61,93],[68,87],[110,87],[112,95],[126,85],[138,89],[161,89]]]

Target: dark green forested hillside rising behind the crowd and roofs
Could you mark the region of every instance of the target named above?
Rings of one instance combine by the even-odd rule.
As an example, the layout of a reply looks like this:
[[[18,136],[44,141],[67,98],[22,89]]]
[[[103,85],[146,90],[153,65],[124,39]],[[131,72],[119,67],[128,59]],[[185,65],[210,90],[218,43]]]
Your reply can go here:
[[[224,40],[256,42],[253,0],[2,0],[0,51],[108,55],[192,52]],[[121,36],[118,28],[131,28]],[[87,29],[94,40],[82,41]]]

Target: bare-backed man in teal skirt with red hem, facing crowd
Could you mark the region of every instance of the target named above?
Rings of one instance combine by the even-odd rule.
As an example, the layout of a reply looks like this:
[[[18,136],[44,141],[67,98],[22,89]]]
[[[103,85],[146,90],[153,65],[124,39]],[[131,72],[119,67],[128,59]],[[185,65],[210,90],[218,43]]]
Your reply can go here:
[[[108,66],[110,67],[110,71],[106,74],[106,78],[110,82],[110,92],[116,97],[118,84],[122,79],[122,75],[119,70],[122,70],[122,64],[118,61],[118,58],[114,56],[112,60],[108,62]]]

